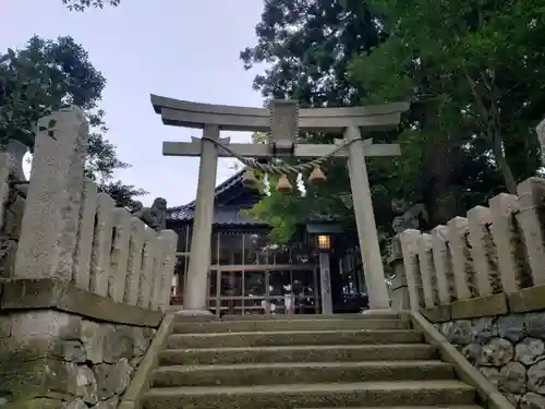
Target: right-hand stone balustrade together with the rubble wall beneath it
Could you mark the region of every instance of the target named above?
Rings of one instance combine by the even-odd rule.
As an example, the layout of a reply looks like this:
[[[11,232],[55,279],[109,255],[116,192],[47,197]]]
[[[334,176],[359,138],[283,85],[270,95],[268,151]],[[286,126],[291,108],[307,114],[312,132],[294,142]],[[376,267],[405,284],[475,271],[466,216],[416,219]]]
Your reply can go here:
[[[392,308],[426,316],[520,408],[544,407],[545,179],[396,240]]]

